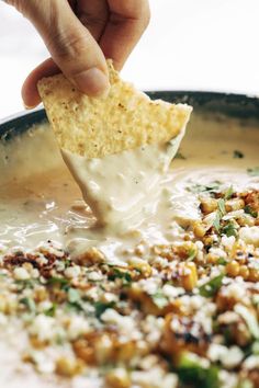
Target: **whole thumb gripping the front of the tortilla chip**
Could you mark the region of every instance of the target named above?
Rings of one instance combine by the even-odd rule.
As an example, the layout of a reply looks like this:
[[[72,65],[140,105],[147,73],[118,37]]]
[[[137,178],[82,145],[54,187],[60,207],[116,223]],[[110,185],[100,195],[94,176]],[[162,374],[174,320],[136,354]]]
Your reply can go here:
[[[25,1],[24,14],[42,35],[53,60],[83,93],[97,96],[109,90],[104,55],[67,1]]]

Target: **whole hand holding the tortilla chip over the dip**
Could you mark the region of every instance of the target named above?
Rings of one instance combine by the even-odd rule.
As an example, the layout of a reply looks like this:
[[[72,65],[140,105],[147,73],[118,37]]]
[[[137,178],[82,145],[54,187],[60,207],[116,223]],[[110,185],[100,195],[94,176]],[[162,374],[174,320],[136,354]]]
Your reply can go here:
[[[52,55],[23,84],[27,107],[41,102],[37,81],[60,70],[83,93],[105,93],[105,58],[120,70],[149,22],[148,0],[5,1],[34,24]]]

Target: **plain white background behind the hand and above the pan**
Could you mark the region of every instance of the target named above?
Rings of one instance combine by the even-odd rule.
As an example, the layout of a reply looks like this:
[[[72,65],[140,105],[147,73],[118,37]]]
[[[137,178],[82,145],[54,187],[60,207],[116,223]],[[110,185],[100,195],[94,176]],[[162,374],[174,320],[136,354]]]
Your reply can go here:
[[[150,0],[150,25],[123,70],[125,79],[145,90],[259,94],[258,0]],[[46,57],[35,30],[0,1],[0,118],[23,110],[22,82]]]

